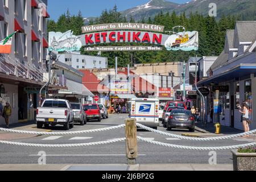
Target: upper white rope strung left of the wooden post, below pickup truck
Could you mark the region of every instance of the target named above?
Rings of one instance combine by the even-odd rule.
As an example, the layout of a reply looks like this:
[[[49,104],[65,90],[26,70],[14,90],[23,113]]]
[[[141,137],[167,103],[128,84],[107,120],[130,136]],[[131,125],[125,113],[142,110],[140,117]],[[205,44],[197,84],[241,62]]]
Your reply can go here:
[[[11,129],[4,129],[0,128],[0,131],[10,132],[10,133],[21,133],[21,134],[34,134],[34,135],[73,135],[73,134],[84,134],[84,133],[94,133],[100,131],[109,131],[114,129],[120,129],[125,127],[125,124],[112,126],[112,127],[105,127],[103,129],[94,129],[94,130],[82,130],[82,131],[66,131],[66,132],[38,132],[38,131],[23,131],[23,130],[11,130]]]

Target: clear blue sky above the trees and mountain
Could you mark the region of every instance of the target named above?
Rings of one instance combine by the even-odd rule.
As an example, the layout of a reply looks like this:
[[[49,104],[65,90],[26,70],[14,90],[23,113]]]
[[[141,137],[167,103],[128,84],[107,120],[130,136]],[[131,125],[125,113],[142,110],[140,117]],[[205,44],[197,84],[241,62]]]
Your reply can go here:
[[[51,19],[57,19],[67,9],[71,14],[82,11],[84,17],[99,16],[104,9],[111,9],[116,4],[118,11],[126,10],[131,7],[143,5],[150,0],[48,0],[48,12]],[[167,0],[176,3],[185,3],[189,0]]]

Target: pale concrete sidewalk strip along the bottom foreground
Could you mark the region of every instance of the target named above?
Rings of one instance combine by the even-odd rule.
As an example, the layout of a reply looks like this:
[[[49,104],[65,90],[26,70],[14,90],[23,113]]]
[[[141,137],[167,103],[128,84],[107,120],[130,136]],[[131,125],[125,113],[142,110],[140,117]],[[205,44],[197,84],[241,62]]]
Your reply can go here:
[[[0,171],[233,171],[233,164],[0,164]]]

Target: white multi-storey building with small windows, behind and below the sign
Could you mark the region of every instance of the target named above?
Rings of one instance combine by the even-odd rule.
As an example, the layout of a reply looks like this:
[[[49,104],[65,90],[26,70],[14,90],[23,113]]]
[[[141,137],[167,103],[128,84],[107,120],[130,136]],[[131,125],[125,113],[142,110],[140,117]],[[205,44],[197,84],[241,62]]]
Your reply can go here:
[[[81,55],[80,51],[58,55],[61,63],[75,69],[105,69],[108,68],[108,58],[100,56]]]

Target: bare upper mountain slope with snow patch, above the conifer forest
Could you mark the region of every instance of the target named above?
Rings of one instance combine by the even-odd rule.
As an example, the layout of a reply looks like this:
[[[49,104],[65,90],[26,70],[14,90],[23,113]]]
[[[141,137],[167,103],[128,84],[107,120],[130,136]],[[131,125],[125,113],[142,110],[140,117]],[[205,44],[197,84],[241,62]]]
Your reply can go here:
[[[191,12],[208,15],[211,9],[209,7],[210,3],[217,5],[217,19],[220,19],[222,15],[241,14],[246,16],[247,19],[253,19],[256,16],[255,0],[192,0],[181,5],[165,0],[151,0],[145,5],[137,6],[121,13],[126,18],[132,17],[135,20],[154,18],[161,11],[163,13],[175,11],[177,15],[183,13],[189,15]]]

